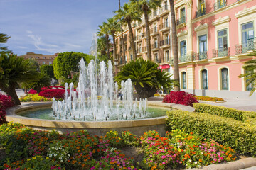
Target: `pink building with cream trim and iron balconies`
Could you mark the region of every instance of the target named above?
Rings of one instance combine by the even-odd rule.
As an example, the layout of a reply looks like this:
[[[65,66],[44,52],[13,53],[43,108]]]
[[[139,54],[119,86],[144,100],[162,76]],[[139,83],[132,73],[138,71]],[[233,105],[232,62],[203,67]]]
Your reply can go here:
[[[256,47],[256,1],[176,1],[181,89],[196,95],[248,98],[238,75]],[[256,98],[254,94],[251,98]]]

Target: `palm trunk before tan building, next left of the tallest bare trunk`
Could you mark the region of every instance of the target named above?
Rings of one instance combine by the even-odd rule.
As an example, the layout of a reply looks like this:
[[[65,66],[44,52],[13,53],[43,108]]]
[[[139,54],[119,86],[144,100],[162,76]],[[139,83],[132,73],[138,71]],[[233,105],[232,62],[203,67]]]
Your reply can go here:
[[[149,7],[144,5],[143,6],[144,11],[144,18],[145,18],[145,26],[146,26],[146,50],[147,50],[147,60],[152,60],[152,54],[151,54],[151,45],[150,45],[150,32],[149,32],[149,16],[148,11]]]

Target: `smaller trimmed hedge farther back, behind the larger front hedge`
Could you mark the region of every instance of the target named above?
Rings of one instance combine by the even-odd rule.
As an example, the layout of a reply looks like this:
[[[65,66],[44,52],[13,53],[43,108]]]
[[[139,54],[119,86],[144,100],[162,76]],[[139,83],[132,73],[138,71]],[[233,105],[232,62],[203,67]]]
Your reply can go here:
[[[200,113],[208,113],[211,115],[219,115],[226,118],[234,118],[235,120],[244,121],[245,111],[239,111],[234,108],[226,108],[223,106],[213,106],[209,104],[203,103],[193,103],[193,108],[195,108],[195,112]]]

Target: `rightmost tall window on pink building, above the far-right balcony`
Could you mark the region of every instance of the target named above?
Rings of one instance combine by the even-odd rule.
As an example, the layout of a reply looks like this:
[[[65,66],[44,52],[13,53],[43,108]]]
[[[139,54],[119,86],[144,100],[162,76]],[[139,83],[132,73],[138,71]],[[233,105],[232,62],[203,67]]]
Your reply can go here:
[[[253,22],[242,25],[242,52],[254,49],[254,28]]]

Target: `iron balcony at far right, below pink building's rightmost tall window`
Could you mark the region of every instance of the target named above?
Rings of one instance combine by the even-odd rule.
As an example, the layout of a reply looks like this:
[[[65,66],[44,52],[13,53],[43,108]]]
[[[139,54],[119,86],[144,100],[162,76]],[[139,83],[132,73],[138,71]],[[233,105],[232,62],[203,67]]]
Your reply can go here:
[[[235,45],[235,54],[239,55],[255,49],[256,49],[256,38],[250,38],[245,43]]]

